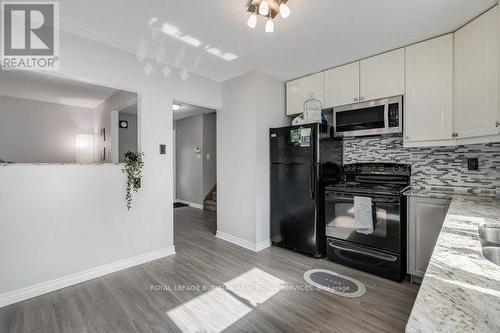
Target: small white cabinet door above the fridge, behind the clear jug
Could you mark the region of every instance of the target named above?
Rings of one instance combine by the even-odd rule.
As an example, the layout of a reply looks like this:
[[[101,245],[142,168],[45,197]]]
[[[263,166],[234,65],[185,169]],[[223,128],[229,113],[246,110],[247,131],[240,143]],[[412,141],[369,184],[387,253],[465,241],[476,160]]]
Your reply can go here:
[[[286,114],[295,115],[304,112],[304,102],[311,97],[317,98],[324,105],[323,73],[309,75],[286,83]]]

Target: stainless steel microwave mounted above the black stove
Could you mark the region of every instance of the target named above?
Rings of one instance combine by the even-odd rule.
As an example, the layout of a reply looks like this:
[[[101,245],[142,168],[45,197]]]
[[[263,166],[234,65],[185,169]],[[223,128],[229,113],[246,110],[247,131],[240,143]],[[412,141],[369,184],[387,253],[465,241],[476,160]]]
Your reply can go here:
[[[403,133],[403,96],[333,108],[336,137]]]

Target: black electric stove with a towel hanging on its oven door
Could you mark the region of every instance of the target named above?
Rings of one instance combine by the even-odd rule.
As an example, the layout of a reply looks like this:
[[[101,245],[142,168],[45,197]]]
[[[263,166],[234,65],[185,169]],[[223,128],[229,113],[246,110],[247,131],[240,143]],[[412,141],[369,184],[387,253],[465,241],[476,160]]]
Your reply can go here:
[[[392,280],[406,275],[407,164],[357,163],[343,166],[342,181],[326,187],[328,259]],[[369,197],[373,232],[355,227],[354,197]]]

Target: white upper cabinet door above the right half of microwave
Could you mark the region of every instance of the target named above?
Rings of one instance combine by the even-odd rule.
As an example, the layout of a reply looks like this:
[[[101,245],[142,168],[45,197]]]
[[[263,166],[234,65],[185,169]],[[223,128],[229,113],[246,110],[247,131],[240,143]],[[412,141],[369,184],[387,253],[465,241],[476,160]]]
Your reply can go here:
[[[404,49],[361,60],[360,98],[371,100],[404,94]]]

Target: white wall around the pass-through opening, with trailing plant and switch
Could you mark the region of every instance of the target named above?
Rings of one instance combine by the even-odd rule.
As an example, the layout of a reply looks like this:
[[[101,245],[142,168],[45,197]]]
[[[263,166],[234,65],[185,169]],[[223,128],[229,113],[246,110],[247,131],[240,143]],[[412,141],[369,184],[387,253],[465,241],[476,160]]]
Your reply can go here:
[[[143,67],[134,55],[61,34],[58,74],[139,93],[142,189],[127,211],[119,165],[0,166],[0,304],[2,293],[171,252],[172,95],[220,108],[221,86],[195,75],[183,81],[176,71],[168,78],[158,70],[146,76]],[[167,145],[167,155],[159,155],[159,144]]]

